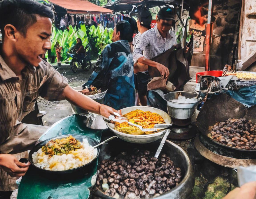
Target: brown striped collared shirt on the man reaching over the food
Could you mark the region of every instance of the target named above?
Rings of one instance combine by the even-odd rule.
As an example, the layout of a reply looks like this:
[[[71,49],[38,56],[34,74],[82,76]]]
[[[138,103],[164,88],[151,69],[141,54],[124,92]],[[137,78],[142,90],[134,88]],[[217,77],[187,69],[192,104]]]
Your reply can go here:
[[[38,67],[25,67],[19,79],[0,55],[0,151],[2,143],[17,135],[20,143],[29,145],[29,133],[20,121],[34,110],[39,95],[56,101],[67,85],[68,80],[45,61]]]

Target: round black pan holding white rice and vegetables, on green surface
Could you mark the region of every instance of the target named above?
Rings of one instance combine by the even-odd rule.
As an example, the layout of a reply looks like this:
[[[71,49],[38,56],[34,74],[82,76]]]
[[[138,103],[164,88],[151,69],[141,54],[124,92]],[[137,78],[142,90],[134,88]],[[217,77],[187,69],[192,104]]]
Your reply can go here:
[[[69,137],[71,134],[69,135],[61,135],[61,136],[56,136],[56,137],[52,137],[50,139],[47,139],[45,141],[42,141],[40,143],[38,143],[37,145],[35,145],[33,147],[33,149],[29,152],[29,162],[31,162],[31,164],[36,167],[37,169],[41,170],[41,171],[44,171],[44,172],[47,172],[47,173],[50,173],[50,174],[69,174],[69,173],[74,173],[74,172],[77,172],[77,171],[81,171],[81,170],[88,170],[90,169],[91,167],[91,163],[99,156],[99,153],[100,153],[100,149],[99,148],[96,148],[94,150],[97,150],[97,155],[87,164],[81,166],[81,167],[77,167],[77,168],[73,168],[73,169],[68,169],[68,170],[64,170],[64,171],[50,171],[50,170],[46,170],[46,169],[42,169],[42,168],[39,168],[37,166],[35,166],[34,162],[33,162],[33,158],[32,158],[32,154],[34,152],[37,152],[40,148],[42,148],[42,146],[46,145],[47,142],[49,142],[50,140],[55,140],[55,139],[62,139],[62,138],[66,138],[66,137]],[[83,136],[83,135],[72,135],[74,138],[76,138],[76,140],[79,140],[80,142],[83,142],[85,140],[88,141],[88,143],[91,145],[91,146],[95,146],[97,144],[99,144],[96,140],[90,138],[90,137],[87,137],[87,136]]]

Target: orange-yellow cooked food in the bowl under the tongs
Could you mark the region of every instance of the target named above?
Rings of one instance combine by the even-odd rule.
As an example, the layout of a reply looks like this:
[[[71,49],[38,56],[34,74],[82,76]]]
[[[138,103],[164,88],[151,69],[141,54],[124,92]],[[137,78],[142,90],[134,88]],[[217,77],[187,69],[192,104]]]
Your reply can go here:
[[[133,124],[137,124],[142,126],[142,128],[154,128],[155,124],[165,124],[164,119],[157,113],[152,113],[150,111],[142,111],[142,110],[135,110],[131,111],[125,115],[129,122]],[[115,122],[115,130],[127,133],[131,135],[142,135],[142,134],[153,134],[156,132],[147,131],[143,132],[138,127],[130,126],[128,123],[118,123]]]

